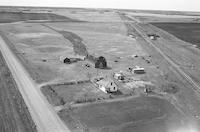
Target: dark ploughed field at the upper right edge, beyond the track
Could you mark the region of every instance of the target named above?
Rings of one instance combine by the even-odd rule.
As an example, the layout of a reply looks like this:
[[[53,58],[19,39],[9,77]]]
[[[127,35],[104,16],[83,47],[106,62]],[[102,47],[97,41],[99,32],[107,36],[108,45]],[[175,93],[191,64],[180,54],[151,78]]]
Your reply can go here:
[[[200,24],[199,23],[151,23],[183,41],[200,46]]]

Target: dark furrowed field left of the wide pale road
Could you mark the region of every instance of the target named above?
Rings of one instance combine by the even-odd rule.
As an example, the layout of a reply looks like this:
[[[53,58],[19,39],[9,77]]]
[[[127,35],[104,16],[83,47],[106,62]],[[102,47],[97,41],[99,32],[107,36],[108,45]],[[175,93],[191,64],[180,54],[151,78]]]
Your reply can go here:
[[[0,53],[0,131],[36,132],[35,124]]]

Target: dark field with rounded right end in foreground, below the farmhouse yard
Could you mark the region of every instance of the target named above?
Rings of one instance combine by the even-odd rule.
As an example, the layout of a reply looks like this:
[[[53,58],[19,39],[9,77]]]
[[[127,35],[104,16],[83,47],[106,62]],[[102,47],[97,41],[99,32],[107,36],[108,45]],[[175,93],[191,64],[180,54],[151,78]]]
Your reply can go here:
[[[78,119],[81,127],[91,132],[168,132],[169,128],[176,129],[185,123],[184,116],[173,105],[154,97],[73,107],[59,115],[66,123]]]

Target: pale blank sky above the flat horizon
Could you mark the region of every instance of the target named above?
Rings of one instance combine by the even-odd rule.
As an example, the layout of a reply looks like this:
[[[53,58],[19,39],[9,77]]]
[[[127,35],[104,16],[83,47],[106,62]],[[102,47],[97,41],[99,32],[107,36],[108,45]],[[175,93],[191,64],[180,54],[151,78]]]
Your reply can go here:
[[[0,0],[0,5],[200,11],[200,0]]]

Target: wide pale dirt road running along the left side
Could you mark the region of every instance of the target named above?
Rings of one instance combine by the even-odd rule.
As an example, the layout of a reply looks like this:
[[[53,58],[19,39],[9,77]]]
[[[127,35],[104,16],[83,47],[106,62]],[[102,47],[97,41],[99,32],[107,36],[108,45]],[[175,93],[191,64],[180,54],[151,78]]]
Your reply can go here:
[[[48,103],[40,89],[2,38],[0,38],[0,50],[29,108],[37,130],[39,132],[68,132],[69,129],[58,117],[53,107]]]

